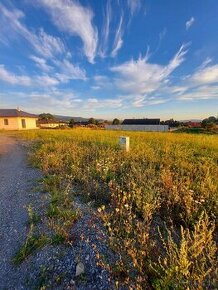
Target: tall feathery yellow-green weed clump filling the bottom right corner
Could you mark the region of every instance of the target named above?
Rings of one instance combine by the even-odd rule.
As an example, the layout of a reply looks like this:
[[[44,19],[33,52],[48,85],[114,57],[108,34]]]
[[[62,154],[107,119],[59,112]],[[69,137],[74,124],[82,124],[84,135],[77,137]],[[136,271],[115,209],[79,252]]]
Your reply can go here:
[[[202,214],[191,232],[181,227],[181,238],[175,242],[167,229],[168,238],[163,238],[164,253],[154,263],[153,269],[159,279],[155,289],[215,289],[216,244],[213,240],[215,225]]]

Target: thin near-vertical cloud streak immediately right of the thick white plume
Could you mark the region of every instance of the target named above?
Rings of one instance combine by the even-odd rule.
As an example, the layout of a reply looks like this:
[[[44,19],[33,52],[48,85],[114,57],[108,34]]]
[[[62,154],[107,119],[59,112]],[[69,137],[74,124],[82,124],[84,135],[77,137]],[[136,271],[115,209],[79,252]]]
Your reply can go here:
[[[107,1],[105,11],[103,13],[104,23],[102,28],[102,40],[99,49],[99,55],[105,57],[108,49],[108,38],[110,33],[110,23],[112,18],[111,0]]]

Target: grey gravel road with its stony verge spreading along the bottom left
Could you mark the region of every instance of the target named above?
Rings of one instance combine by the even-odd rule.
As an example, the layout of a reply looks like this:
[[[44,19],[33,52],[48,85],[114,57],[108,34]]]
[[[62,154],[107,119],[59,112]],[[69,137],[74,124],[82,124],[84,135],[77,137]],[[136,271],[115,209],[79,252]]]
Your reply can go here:
[[[74,207],[81,211],[81,217],[72,228],[73,246],[47,245],[19,266],[13,265],[12,259],[28,234],[28,205],[43,219],[49,200],[49,193],[40,190],[38,180],[42,173],[28,166],[26,147],[20,140],[0,135],[0,290],[115,289],[109,273],[98,265],[93,250],[96,248],[111,261],[114,259],[107,248],[101,221],[92,207],[78,199]],[[84,264],[85,273],[76,277],[79,261]]]

